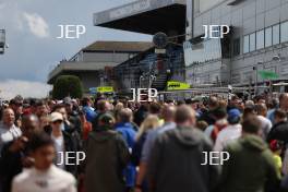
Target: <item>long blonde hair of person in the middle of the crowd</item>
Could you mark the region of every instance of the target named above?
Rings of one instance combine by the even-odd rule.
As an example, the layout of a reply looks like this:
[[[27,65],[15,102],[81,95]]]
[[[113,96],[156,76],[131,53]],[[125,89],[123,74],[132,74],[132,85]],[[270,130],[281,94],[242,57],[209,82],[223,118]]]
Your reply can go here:
[[[141,124],[139,132],[136,134],[136,141],[148,130],[153,130],[160,127],[160,122],[157,116],[149,115]]]

